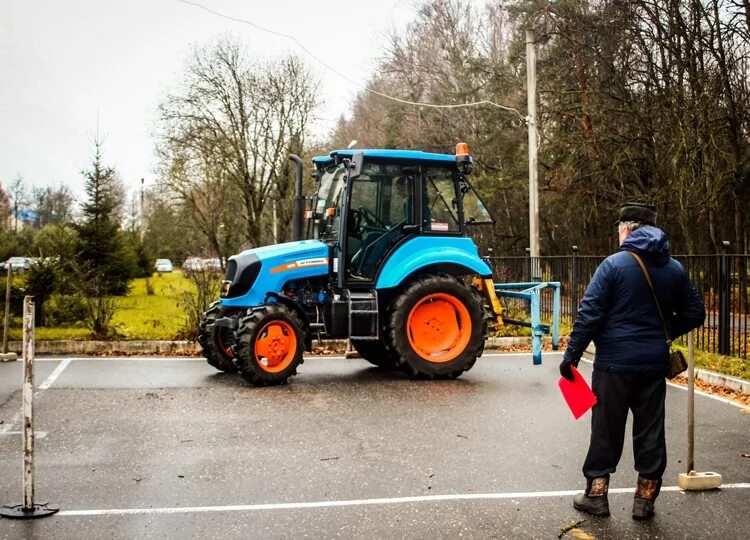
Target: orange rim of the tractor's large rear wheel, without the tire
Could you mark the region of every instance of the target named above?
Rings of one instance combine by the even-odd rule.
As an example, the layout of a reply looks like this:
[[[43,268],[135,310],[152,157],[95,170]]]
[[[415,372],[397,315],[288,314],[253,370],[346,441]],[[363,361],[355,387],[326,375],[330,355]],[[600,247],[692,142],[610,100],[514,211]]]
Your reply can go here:
[[[455,296],[429,294],[409,312],[406,333],[412,349],[430,362],[450,362],[471,338],[471,317]]]

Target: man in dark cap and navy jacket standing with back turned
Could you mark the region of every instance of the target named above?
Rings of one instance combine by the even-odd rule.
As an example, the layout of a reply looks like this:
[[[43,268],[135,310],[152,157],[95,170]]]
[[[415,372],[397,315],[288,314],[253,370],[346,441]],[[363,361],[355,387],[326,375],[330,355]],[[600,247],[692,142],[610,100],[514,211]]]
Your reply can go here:
[[[572,380],[570,366],[578,365],[594,341],[592,388],[597,404],[583,464],[586,491],[575,497],[573,506],[609,515],[609,475],[622,455],[630,409],[638,471],[633,518],[648,519],[667,466],[664,376],[669,345],[651,289],[632,253],[640,255],[648,269],[672,339],[703,324],[705,309],[685,269],[669,256],[669,240],[655,226],[653,206],[625,203],[617,225],[620,251],[605,259],[586,288],[560,364],[562,376]]]

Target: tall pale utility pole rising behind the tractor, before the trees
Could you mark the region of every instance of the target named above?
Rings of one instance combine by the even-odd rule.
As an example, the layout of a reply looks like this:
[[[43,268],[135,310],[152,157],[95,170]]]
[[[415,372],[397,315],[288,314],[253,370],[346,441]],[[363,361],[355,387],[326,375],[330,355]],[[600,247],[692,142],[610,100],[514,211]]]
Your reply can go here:
[[[531,278],[541,276],[539,266],[539,180],[537,177],[537,139],[536,139],[536,50],[534,48],[534,30],[526,30],[526,90],[529,129],[529,248],[531,255]]]

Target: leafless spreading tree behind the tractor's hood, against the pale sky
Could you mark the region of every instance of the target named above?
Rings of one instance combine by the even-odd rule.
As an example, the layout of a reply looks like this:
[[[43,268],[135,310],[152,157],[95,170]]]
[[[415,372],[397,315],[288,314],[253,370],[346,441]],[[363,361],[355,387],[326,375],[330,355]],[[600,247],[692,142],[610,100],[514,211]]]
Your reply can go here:
[[[288,197],[286,158],[304,145],[316,93],[298,58],[253,62],[230,38],[194,49],[183,81],[160,107],[161,176],[196,209],[217,255],[220,229],[234,225],[237,212],[245,240],[262,243],[270,194]]]

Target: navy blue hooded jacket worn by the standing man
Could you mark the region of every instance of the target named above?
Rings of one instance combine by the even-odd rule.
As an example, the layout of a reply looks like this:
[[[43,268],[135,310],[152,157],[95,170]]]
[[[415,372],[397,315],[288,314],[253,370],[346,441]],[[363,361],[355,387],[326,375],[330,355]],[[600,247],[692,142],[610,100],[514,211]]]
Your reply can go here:
[[[596,269],[578,307],[565,358],[578,364],[593,340],[594,369],[665,373],[669,347],[651,289],[628,252],[641,256],[654,284],[672,339],[697,328],[703,302],[682,265],[669,256],[669,239],[656,227],[636,229]]]

